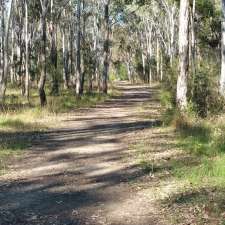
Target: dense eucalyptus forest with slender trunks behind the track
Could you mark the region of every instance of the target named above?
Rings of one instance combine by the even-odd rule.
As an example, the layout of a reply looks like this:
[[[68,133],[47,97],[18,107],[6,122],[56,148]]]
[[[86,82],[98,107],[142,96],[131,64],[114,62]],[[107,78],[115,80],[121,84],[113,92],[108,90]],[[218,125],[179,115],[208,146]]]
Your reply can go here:
[[[223,105],[221,9],[211,0],[1,1],[1,101],[7,83],[28,102],[38,89],[44,106],[46,85],[80,96],[107,93],[113,79],[161,81],[204,117]]]

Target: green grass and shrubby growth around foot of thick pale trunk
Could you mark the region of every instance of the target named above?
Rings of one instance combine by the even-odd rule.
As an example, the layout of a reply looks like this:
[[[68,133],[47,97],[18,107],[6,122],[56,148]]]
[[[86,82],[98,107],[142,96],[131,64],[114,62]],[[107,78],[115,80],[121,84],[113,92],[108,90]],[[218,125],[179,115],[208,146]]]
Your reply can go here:
[[[164,108],[164,125],[176,129],[176,147],[189,155],[188,163],[181,159],[173,160],[171,168],[174,175],[197,186],[210,183],[225,187],[224,118],[200,119],[191,105],[185,114],[181,114],[167,91],[161,91],[160,102]]]

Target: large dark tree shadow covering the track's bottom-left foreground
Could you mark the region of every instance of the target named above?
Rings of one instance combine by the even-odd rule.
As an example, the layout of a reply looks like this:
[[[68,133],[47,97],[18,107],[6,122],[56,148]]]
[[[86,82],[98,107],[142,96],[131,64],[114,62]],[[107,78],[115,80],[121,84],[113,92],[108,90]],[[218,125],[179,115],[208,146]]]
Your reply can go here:
[[[0,224],[97,224],[91,218],[95,213],[92,207],[96,209],[102,204],[119,201],[120,192],[115,192],[114,188],[143,175],[132,166],[91,177],[83,186],[76,186],[76,181],[79,179],[77,176],[85,177],[84,172],[59,173],[12,182],[1,186]],[[73,185],[68,182],[68,177],[74,180]]]

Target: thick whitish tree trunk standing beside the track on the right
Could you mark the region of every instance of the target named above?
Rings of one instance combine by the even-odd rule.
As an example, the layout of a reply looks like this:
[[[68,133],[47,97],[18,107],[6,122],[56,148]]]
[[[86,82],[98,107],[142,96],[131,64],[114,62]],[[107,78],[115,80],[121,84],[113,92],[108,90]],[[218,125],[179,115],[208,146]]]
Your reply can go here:
[[[188,52],[189,0],[181,0],[179,17],[179,75],[177,80],[177,105],[181,111],[187,108]]]

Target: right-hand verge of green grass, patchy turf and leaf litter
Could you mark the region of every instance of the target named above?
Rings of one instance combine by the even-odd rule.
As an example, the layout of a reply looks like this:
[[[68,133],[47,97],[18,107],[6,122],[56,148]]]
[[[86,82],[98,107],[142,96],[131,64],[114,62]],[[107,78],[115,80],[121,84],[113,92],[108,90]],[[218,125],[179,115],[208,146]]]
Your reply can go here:
[[[171,99],[167,94],[161,101],[165,106],[162,110],[164,126],[146,130],[140,137],[136,135],[138,139],[134,137],[130,146],[135,150],[137,164],[144,173],[153,174],[156,180],[163,182],[164,189],[167,189],[167,182],[168,187],[176,184],[178,189],[169,189],[169,197],[162,201],[172,224],[223,225],[225,115],[200,119],[191,110],[186,114],[176,111],[168,104]],[[167,134],[173,135],[164,140]],[[158,153],[163,155],[168,151],[174,154],[157,157]]]

